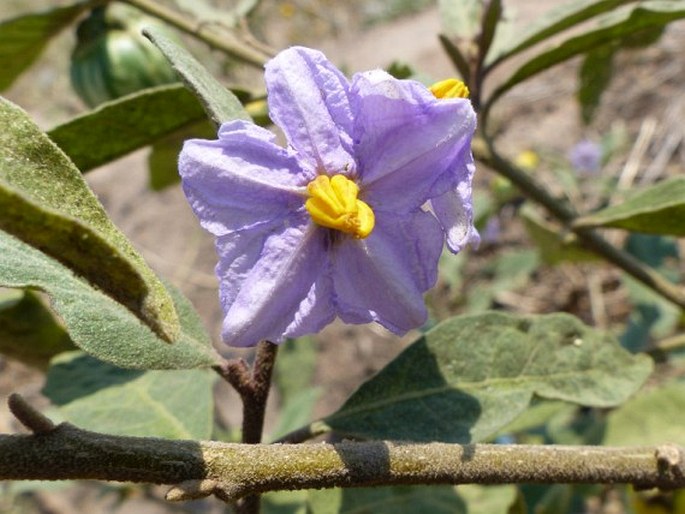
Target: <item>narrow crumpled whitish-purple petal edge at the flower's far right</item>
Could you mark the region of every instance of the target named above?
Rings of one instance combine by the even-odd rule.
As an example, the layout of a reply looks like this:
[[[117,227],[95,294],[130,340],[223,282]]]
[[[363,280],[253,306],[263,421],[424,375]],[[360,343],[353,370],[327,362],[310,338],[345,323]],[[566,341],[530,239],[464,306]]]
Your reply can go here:
[[[476,165],[470,151],[466,157],[459,156],[450,170],[456,186],[431,198],[431,208],[445,232],[447,248],[460,252],[466,245],[474,248],[480,236],[473,226],[473,196],[471,184]]]

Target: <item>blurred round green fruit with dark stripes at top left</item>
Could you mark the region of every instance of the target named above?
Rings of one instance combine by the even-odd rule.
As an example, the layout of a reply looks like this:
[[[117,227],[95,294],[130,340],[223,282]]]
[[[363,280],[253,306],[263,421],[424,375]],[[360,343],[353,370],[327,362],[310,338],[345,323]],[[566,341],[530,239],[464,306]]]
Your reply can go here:
[[[116,3],[96,7],[79,24],[71,83],[88,106],[178,81],[166,58],[142,34],[152,26],[166,29],[137,9]]]

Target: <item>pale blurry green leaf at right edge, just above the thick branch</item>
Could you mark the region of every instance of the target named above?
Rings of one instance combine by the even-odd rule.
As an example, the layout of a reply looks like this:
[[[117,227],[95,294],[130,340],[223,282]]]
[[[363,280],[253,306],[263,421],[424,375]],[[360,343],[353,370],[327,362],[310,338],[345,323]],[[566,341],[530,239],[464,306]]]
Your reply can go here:
[[[678,381],[635,396],[607,417],[604,444],[685,445],[685,382]]]

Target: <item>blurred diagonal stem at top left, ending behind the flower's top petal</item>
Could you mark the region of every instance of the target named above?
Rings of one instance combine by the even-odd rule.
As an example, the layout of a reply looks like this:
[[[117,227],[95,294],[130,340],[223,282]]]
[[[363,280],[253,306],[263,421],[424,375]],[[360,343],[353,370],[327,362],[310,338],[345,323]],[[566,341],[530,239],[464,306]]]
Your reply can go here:
[[[219,50],[226,55],[244,62],[255,68],[262,69],[264,63],[267,61],[270,54],[240,41],[235,34],[228,30],[216,30],[214,25],[208,23],[198,22],[192,18],[183,15],[177,11],[169,9],[168,7],[159,4],[154,0],[120,0],[124,3],[132,5],[147,14],[159,18],[160,20],[176,27],[186,34],[203,41],[209,47]]]

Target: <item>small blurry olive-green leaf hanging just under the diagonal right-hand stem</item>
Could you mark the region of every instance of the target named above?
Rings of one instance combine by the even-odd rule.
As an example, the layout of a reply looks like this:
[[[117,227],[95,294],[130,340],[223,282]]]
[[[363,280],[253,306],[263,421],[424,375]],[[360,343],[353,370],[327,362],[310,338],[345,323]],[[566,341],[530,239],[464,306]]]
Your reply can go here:
[[[555,266],[562,262],[594,262],[599,259],[584,249],[573,233],[564,233],[563,229],[543,220],[529,206],[521,210],[521,219],[545,264]]]

